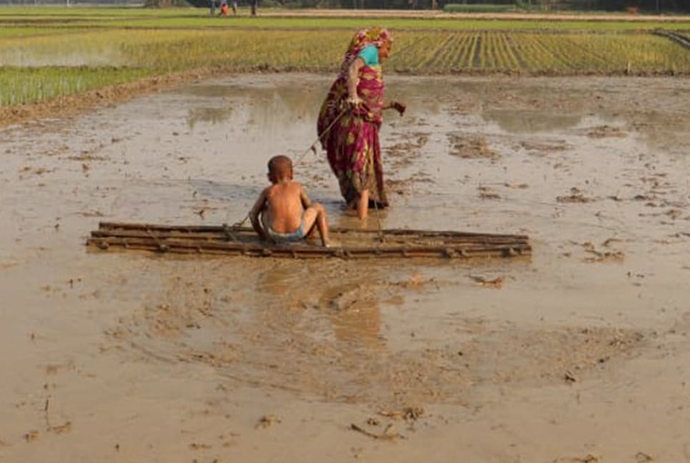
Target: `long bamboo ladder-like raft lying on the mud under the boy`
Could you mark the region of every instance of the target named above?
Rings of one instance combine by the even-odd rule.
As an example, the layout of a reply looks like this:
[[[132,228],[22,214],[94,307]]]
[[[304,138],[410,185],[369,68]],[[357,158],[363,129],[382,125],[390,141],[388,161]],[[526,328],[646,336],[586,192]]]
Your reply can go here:
[[[332,229],[331,236],[341,242],[339,247],[326,248],[309,242],[261,242],[254,230],[238,226],[101,222],[99,229],[91,231],[86,245],[91,249],[104,251],[124,249],[293,259],[526,257],[531,254],[529,239],[525,235],[405,229]]]

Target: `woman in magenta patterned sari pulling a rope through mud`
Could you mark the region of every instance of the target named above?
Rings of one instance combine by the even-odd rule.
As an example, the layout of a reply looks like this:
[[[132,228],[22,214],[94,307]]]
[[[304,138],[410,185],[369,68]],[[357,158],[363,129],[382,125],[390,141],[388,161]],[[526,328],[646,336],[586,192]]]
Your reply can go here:
[[[381,62],[393,40],[387,29],[364,29],[350,42],[336,81],[321,106],[317,130],[348,206],[364,219],[373,204],[388,206],[384,191],[379,128],[381,112],[405,105],[384,101]]]

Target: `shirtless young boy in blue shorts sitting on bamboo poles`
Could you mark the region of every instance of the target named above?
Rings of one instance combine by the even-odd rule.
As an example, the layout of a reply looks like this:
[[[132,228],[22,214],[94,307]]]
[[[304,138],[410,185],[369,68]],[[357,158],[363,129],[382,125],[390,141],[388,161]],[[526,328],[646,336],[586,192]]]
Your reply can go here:
[[[321,244],[329,245],[326,211],[319,203],[311,203],[304,188],[292,180],[292,161],[288,156],[269,160],[271,186],[261,191],[249,211],[251,226],[262,239],[275,243],[296,242],[314,229],[319,229]]]

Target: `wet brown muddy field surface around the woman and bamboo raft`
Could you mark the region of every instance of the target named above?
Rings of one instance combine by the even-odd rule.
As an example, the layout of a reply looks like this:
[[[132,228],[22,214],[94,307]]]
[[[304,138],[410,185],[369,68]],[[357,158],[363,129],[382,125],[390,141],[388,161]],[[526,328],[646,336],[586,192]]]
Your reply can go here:
[[[328,76],[229,76],[0,130],[0,460],[690,461],[690,80],[388,79],[392,207],[531,259],[88,251],[241,221],[269,156],[334,226]]]

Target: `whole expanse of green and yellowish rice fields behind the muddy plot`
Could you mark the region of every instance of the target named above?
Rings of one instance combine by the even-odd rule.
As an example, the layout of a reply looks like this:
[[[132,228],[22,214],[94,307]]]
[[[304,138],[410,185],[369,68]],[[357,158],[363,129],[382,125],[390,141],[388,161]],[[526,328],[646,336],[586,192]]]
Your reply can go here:
[[[394,31],[389,72],[690,75],[690,50],[652,34],[688,36],[690,18],[261,13],[0,8],[0,106],[202,69],[334,72],[351,34],[373,24]]]

